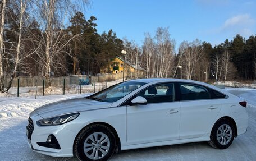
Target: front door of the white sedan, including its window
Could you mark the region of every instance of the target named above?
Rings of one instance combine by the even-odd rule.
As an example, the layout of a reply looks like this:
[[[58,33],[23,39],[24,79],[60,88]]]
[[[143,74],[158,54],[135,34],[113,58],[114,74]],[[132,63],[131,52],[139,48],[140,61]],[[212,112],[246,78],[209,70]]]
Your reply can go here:
[[[179,139],[180,103],[175,102],[174,84],[150,86],[136,96],[147,105],[127,105],[127,144]]]

